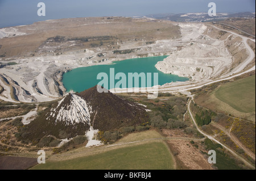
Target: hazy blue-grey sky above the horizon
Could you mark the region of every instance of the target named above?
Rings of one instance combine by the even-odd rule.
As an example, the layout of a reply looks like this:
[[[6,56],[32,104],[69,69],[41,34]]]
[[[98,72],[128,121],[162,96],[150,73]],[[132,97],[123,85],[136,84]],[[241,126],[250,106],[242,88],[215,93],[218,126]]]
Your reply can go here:
[[[46,16],[38,16],[39,2]],[[0,27],[31,24],[40,20],[92,16],[139,16],[159,13],[255,12],[255,0],[0,0]]]

